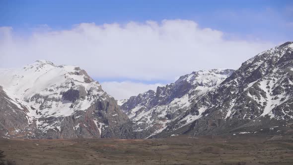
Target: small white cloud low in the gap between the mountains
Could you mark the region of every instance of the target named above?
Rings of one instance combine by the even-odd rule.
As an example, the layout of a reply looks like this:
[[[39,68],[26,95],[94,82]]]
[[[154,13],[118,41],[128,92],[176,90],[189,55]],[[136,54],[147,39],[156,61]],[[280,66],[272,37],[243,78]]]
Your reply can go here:
[[[101,83],[102,88],[107,91],[108,94],[113,96],[115,99],[121,100],[129,98],[130,96],[138,95],[149,89],[156,90],[157,86],[162,86],[160,83],[145,84],[145,83],[134,83],[134,82],[103,82]]]

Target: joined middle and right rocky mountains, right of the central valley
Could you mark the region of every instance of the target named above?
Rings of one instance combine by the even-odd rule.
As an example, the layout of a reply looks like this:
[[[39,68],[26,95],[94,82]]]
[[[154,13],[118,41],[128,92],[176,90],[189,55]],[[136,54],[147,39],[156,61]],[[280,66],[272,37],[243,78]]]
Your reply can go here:
[[[293,126],[293,42],[256,55],[234,72],[185,75],[130,97],[121,108],[140,138],[288,133]]]

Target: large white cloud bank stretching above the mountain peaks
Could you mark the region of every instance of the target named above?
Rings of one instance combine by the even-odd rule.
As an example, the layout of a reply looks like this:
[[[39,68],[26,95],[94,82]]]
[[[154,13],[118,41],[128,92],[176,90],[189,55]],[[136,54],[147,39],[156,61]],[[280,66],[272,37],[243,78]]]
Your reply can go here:
[[[80,23],[70,29],[42,26],[25,36],[0,28],[0,67],[38,59],[76,65],[97,80],[166,80],[200,69],[238,68],[275,43],[224,39],[191,20]]]

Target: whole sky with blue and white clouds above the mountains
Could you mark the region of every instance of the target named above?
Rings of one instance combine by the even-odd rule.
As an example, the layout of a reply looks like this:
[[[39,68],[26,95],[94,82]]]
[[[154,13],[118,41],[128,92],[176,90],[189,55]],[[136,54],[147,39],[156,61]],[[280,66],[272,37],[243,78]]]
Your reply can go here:
[[[76,65],[116,99],[293,41],[292,0],[0,0],[0,68]]]

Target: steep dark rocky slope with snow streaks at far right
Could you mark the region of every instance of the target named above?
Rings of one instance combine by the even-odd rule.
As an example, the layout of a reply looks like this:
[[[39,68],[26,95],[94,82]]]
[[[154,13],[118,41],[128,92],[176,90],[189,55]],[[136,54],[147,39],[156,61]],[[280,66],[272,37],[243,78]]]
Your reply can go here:
[[[292,70],[293,42],[262,52],[194,100],[194,110],[205,109],[203,117],[180,129],[169,125],[154,137],[286,132],[293,124]]]

